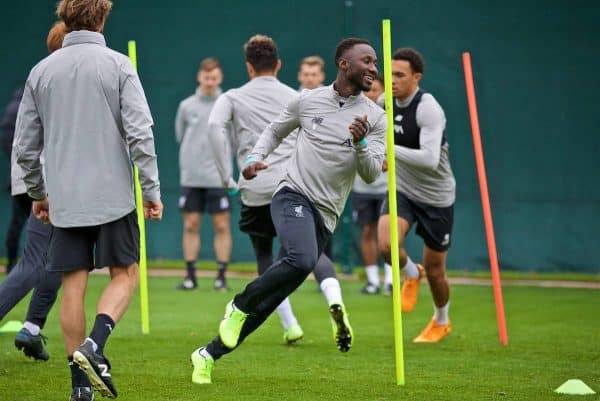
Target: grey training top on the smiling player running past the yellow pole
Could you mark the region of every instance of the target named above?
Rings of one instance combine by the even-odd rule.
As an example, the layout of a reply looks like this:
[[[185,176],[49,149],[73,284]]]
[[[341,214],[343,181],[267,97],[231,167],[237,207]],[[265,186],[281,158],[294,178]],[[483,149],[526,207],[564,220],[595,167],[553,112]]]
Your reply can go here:
[[[353,144],[348,127],[365,114],[370,126],[366,144]],[[343,98],[333,85],[324,86],[296,95],[265,129],[251,156],[264,160],[299,127],[296,148],[279,187],[304,194],[333,232],[356,173],[369,183],[381,174],[386,126],[384,111],[362,93]]]

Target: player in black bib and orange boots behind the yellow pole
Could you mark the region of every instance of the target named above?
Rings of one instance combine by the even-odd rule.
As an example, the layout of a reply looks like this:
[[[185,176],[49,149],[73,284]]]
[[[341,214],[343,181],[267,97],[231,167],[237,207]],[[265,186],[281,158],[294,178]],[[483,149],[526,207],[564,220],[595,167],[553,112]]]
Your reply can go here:
[[[423,266],[431,288],[434,315],[414,342],[437,342],[450,334],[448,318],[450,288],[446,277],[446,256],[454,218],[456,183],[448,158],[446,117],[435,98],[419,88],[425,62],[410,48],[392,56],[394,95],[394,153],[398,221],[390,222],[389,205],[384,202],[379,218],[379,249],[391,263],[391,247],[400,248],[400,266],[407,279],[402,287],[402,310],[414,308],[423,276],[404,249],[404,238],[413,223],[423,238]],[[398,224],[398,244],[390,243],[390,224]]]

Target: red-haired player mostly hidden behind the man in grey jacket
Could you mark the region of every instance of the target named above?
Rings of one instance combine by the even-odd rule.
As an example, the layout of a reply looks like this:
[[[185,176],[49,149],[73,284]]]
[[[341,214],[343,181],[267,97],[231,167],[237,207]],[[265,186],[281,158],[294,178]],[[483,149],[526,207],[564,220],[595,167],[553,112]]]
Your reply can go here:
[[[52,26],[46,40],[49,53],[61,48],[65,33],[64,22],[56,22]],[[24,195],[29,198],[23,181],[23,171],[15,162],[16,152],[11,153],[12,194]],[[60,273],[46,270],[46,253],[51,234],[52,226],[42,223],[30,213],[27,220],[23,257],[14,267],[12,274],[0,284],[0,320],[32,288],[35,288],[29,301],[23,328],[15,337],[15,346],[17,349],[23,350],[26,356],[41,361],[47,361],[49,358],[48,352],[44,349],[46,337],[41,334],[41,330],[60,288]]]

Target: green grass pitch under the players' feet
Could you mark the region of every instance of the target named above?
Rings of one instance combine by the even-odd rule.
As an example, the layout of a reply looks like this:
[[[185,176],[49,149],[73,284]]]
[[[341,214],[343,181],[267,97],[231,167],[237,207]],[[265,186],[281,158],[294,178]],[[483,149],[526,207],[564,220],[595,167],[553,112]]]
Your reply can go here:
[[[107,277],[94,276],[87,296],[88,326]],[[406,385],[394,378],[391,298],[359,294],[361,283],[343,282],[356,341],[337,351],[327,305],[314,281],[292,296],[305,338],[283,344],[272,316],[233,353],[217,361],[213,384],[191,383],[190,353],[216,334],[225,303],[212,280],[193,292],[174,290],[177,278],[150,278],[150,335],[141,334],[136,298],[106,347],[121,400],[562,400],[553,393],[577,378],[600,392],[600,293],[597,290],[506,287],[509,346],[498,341],[491,287],[454,286],[452,334],[439,344],[411,342],[431,317],[422,286],[415,311],[405,314]],[[246,280],[232,280],[240,290]],[[22,320],[22,302],[3,320]],[[0,400],[66,400],[69,371],[58,308],[44,330],[50,360],[26,359],[0,335]],[[581,397],[597,399],[596,396]],[[98,399],[101,399],[98,397]]]

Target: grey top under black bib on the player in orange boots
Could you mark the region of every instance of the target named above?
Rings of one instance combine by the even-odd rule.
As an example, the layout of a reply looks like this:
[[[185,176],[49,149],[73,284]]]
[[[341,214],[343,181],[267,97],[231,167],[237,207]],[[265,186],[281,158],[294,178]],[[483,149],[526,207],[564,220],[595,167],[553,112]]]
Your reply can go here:
[[[400,102],[407,107],[419,88]],[[420,128],[419,149],[394,146],[396,156],[396,187],[410,199],[435,207],[448,207],[456,198],[456,182],[448,159],[448,143],[442,144],[446,129],[444,110],[435,98],[424,93],[417,106],[417,126]]]

